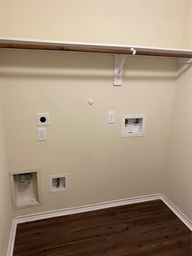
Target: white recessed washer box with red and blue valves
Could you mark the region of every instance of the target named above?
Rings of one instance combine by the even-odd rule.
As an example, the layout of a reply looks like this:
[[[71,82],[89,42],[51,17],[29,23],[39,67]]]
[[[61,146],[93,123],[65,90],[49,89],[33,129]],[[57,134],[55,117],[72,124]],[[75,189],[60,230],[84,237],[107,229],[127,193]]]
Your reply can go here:
[[[146,115],[123,115],[121,138],[145,136]]]

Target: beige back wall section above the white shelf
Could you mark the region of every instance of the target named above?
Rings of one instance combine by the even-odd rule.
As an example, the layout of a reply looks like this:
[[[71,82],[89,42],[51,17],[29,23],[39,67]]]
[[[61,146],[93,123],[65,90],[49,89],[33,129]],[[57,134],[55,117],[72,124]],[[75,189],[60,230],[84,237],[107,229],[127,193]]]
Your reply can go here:
[[[1,1],[1,36],[180,48],[186,1]]]

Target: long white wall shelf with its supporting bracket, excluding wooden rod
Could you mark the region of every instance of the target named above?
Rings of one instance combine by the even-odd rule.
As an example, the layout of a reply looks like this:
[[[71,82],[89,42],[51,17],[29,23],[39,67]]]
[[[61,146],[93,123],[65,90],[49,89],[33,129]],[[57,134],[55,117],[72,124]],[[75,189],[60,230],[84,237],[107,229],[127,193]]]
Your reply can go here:
[[[138,45],[125,45],[125,44],[98,44],[98,43],[82,43],[82,42],[65,42],[65,41],[52,41],[52,40],[40,40],[40,39],[29,39],[29,38],[11,38],[11,37],[0,37],[0,43],[2,44],[28,44],[28,45],[44,45],[44,46],[61,46],[61,47],[79,47],[79,49],[75,49],[75,52],[83,52],[83,53],[88,53],[86,52],[85,49],[83,51],[80,51],[80,48],[97,48],[97,49],[107,49],[107,50],[131,50],[132,56],[137,54],[137,56],[145,56],[145,55],[140,55],[143,54],[142,52],[153,52],[154,55],[159,55],[159,53],[162,53],[160,55],[165,55],[167,53],[175,53],[175,54],[188,54],[191,55],[192,50],[188,49],[174,49],[174,48],[162,48],[162,47],[148,47],[148,46],[138,46]],[[30,48],[30,47],[28,47]],[[33,47],[34,48],[34,47]],[[51,50],[41,50],[41,47],[36,47],[39,49],[22,49],[22,50],[31,50],[31,51],[55,51],[53,49]],[[10,48],[6,48],[7,50],[13,50]],[[14,49],[15,50],[15,49]],[[21,49],[18,49],[21,50]],[[69,50],[69,49],[68,49]],[[85,50],[85,51],[84,51]],[[90,50],[91,51],[91,50]],[[57,52],[67,52],[66,50],[61,50],[60,48],[57,50]],[[74,51],[73,51],[74,52]],[[116,53],[106,53],[104,50],[101,50],[102,53],[97,53],[94,50],[95,54],[112,54],[115,55],[115,64],[114,64],[114,79],[113,79],[113,84],[117,86],[122,85],[122,79],[123,79],[123,65],[125,62],[126,57],[128,56],[125,51],[122,54],[122,51],[119,52],[121,54]],[[93,53],[93,52],[92,52]],[[149,55],[149,53],[146,53],[146,55]],[[152,54],[153,55],[153,54]],[[182,55],[182,56],[183,56]],[[131,56],[131,55],[129,55]],[[175,55],[178,56],[178,55]],[[158,56],[158,58],[176,58],[177,63],[185,63],[189,64],[191,63],[190,58],[178,58],[178,57],[172,57],[172,56]],[[146,56],[145,56],[146,57]],[[157,56],[148,56],[148,57],[157,57]]]

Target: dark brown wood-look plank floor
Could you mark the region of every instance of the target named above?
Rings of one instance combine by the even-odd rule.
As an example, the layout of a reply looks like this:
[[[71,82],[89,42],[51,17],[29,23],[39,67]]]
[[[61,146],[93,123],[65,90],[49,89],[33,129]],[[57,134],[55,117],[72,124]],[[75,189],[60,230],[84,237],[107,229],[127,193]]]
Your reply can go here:
[[[14,256],[191,256],[191,231],[161,201],[18,224]]]

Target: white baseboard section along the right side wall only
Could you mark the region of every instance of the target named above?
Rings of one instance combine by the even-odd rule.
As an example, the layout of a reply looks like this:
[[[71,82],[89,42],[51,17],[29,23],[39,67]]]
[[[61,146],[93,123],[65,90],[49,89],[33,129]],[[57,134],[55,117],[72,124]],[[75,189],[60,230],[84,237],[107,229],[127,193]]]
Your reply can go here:
[[[192,222],[179,210],[177,207],[171,203],[167,197],[161,194],[161,200],[174,212],[178,218],[192,231]]]

